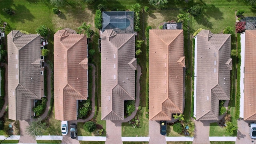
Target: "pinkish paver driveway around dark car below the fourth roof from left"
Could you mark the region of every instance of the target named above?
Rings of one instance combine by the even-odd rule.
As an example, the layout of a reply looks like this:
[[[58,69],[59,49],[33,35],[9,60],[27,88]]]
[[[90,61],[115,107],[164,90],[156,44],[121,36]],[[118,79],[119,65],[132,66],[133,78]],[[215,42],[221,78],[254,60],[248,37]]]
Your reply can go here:
[[[165,136],[160,134],[159,121],[149,121],[149,136],[148,144],[166,144]]]

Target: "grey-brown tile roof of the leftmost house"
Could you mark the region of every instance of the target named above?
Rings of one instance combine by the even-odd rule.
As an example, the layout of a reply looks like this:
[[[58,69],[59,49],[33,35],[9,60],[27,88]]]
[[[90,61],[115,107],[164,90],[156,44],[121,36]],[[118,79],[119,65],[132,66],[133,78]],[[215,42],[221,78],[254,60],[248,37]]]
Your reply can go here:
[[[40,75],[40,35],[12,30],[7,36],[9,119],[30,119],[31,100],[40,100],[44,96]]]

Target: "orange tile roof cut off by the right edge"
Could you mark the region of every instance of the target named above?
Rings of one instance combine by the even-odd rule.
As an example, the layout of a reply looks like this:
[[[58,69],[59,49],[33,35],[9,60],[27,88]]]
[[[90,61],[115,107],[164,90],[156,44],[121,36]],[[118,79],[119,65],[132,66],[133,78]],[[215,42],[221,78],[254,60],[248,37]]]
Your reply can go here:
[[[256,120],[256,30],[245,31],[244,120]]]

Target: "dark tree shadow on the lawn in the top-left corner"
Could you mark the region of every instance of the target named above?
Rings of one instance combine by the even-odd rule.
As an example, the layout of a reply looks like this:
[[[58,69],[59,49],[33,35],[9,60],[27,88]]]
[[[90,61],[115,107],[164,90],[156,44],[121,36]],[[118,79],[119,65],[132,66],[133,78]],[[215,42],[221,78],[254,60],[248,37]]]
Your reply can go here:
[[[28,10],[28,8],[26,8],[26,6],[18,4],[18,5],[14,5],[14,7],[16,9],[15,16],[17,18],[14,18],[12,20],[14,20],[16,22],[22,22],[22,23],[25,23],[25,20],[33,22],[33,19],[35,17],[30,13],[30,10]]]

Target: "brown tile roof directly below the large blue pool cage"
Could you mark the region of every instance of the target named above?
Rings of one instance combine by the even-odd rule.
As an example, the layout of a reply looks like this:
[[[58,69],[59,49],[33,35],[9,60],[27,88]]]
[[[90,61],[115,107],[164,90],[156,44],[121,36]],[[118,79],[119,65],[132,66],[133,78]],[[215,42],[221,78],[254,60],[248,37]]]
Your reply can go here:
[[[101,35],[102,120],[124,120],[124,100],[135,99],[135,35],[105,30]]]

